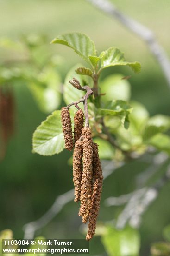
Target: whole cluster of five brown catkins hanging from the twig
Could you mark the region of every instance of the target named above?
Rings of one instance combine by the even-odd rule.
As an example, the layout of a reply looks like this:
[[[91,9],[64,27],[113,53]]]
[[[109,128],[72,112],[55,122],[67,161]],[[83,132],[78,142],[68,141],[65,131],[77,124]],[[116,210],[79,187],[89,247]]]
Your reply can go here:
[[[78,110],[74,117],[74,140],[68,108],[62,108],[61,119],[65,148],[68,150],[74,148],[75,202],[81,202],[79,216],[82,216],[83,223],[88,222],[86,240],[90,240],[95,233],[103,181],[98,145],[93,142],[90,128],[83,127],[82,109]]]

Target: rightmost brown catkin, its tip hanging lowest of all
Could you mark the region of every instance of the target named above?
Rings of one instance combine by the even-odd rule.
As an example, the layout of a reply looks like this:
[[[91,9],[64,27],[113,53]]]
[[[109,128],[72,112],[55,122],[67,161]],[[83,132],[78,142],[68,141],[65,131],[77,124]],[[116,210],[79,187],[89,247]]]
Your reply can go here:
[[[99,214],[100,209],[100,201],[101,201],[101,190],[102,190],[102,182],[103,175],[101,169],[101,161],[99,159],[98,153],[98,145],[94,143],[93,145],[93,195],[91,200],[91,209],[88,223],[88,233],[86,236],[86,240],[90,240],[95,233],[96,229],[96,221],[97,216]]]

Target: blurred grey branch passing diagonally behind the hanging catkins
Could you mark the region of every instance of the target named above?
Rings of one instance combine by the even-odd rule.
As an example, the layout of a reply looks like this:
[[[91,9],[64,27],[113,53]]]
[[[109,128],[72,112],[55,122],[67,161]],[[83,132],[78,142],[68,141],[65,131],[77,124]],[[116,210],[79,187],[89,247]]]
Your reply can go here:
[[[122,166],[124,163],[120,162],[119,166],[115,165],[112,161],[104,161],[102,162],[103,176],[106,179],[109,175],[113,173],[113,171]],[[43,228],[47,225],[57,214],[63,209],[63,207],[70,201],[74,200],[74,189],[71,189],[64,193],[63,195],[57,196],[55,202],[52,204],[50,209],[41,216],[38,220],[27,223],[24,225],[24,238],[31,239],[34,237],[35,232],[38,229]]]

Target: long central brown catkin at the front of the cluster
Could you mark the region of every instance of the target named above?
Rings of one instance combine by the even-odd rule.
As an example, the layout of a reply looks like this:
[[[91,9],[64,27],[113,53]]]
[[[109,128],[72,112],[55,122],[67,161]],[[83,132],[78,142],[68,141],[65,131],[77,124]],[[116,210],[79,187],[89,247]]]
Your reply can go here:
[[[82,129],[83,136],[83,171],[81,182],[81,206],[79,216],[82,216],[82,222],[86,223],[91,208],[92,195],[92,164],[93,164],[93,140],[91,130],[88,127]]]

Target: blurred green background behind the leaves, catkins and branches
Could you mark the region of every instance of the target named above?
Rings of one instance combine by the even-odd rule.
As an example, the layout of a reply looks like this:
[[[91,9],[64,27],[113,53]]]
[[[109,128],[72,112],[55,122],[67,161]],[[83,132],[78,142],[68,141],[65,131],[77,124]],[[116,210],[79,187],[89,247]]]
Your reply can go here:
[[[149,27],[170,56],[170,1],[114,0],[113,3],[122,12]],[[66,47],[50,45],[58,34],[73,31],[88,34],[99,52],[110,46],[120,48],[128,60],[139,61],[142,65],[141,73],[132,75],[129,80],[132,100],[143,103],[151,115],[169,115],[170,88],[148,47],[116,19],[101,13],[85,0],[0,0],[0,24],[0,37],[18,40],[22,34],[47,35],[50,50],[63,57],[64,65],[60,70],[63,80],[70,67],[80,58]],[[2,59],[6,58],[7,53],[1,50],[0,54]],[[10,52],[7,55],[9,57]],[[115,68],[114,71],[110,68],[102,76],[113,72],[121,72],[125,76],[132,74],[128,68]],[[12,229],[14,237],[21,238],[24,224],[41,217],[57,195],[73,188],[73,182],[72,168],[67,164],[71,153],[64,150],[52,157],[31,153],[32,134],[47,115],[39,111],[24,84],[15,85],[14,96],[15,133],[9,141],[5,159],[0,162],[0,230]],[[102,202],[109,196],[131,192],[135,186],[135,176],[147,165],[134,161],[117,169],[104,181]],[[167,184],[144,215],[140,228],[143,255],[148,252],[152,242],[163,240],[162,229],[170,223],[169,193],[170,184]],[[99,221],[112,220],[120,209],[101,203]],[[83,238],[77,212],[78,205],[68,203],[36,236]],[[99,242],[99,237],[94,237],[91,242],[92,254],[104,253]]]

